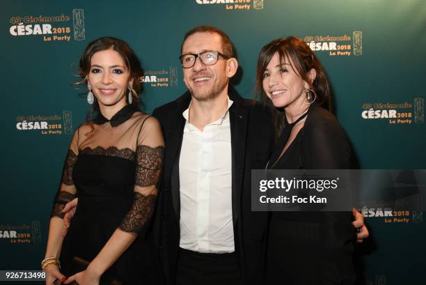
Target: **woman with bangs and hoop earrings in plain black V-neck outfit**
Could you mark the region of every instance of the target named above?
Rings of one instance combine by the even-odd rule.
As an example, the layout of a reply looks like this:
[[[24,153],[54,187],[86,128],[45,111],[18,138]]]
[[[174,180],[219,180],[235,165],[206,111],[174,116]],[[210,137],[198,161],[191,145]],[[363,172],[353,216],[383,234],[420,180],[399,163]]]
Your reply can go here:
[[[278,143],[269,169],[349,169],[351,151],[336,117],[322,107],[329,82],[299,38],[273,40],[259,54],[258,88],[274,109]],[[267,284],[354,284],[356,231],[350,212],[271,212]]]

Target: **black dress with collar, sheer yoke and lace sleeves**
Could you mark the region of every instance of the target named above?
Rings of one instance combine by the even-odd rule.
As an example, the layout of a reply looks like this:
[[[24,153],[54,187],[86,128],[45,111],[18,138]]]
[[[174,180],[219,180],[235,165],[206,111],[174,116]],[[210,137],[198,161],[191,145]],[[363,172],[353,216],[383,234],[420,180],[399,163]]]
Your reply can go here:
[[[129,284],[157,284],[158,268],[147,230],[163,155],[157,119],[130,105],[111,120],[99,114],[74,132],[52,211],[61,217],[63,203],[77,194],[79,203],[61,252],[65,275],[74,256],[93,260],[119,228],[139,236],[107,275]]]

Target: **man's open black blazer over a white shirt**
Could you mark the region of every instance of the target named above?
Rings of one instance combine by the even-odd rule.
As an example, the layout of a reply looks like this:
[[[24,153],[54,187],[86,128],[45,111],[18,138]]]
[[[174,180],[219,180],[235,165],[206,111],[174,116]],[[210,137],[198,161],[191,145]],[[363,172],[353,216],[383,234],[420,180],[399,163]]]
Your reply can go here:
[[[265,271],[267,213],[251,212],[251,169],[264,169],[274,146],[271,112],[253,100],[243,99],[232,86],[229,97],[232,147],[232,220],[235,252],[245,284],[262,284]],[[180,241],[179,157],[189,91],[154,110],[164,132],[166,153],[154,224],[166,284],[175,284]]]

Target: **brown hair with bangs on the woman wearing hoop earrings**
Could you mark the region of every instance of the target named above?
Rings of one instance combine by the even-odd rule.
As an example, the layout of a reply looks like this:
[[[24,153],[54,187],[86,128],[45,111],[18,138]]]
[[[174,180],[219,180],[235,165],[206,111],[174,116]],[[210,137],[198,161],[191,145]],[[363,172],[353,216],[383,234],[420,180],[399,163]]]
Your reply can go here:
[[[290,36],[288,38],[278,38],[272,40],[271,43],[262,47],[258,57],[258,68],[256,70],[256,95],[258,98],[260,95],[260,101],[265,105],[271,107],[274,114],[274,125],[276,134],[278,137],[285,125],[285,113],[282,108],[276,108],[272,104],[272,101],[265,94],[262,87],[263,72],[265,72],[269,61],[271,61],[274,54],[278,53],[280,61],[283,61],[285,57],[292,59],[293,64],[291,65],[293,70],[309,84],[309,87],[315,91],[315,102],[319,105],[324,105],[327,109],[330,107],[330,86],[327,79],[326,73],[322,64],[319,63],[317,56],[313,53],[310,47],[300,38]],[[291,64],[291,62],[290,62]],[[311,69],[315,69],[317,75],[315,80],[311,83],[308,79],[308,72]]]

